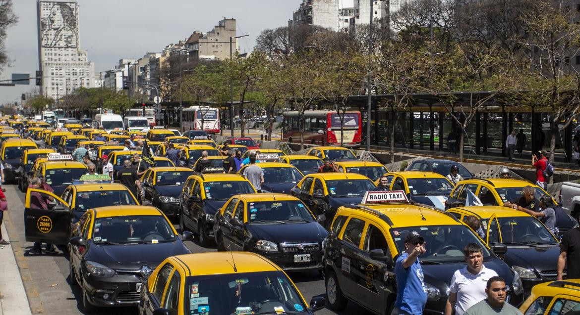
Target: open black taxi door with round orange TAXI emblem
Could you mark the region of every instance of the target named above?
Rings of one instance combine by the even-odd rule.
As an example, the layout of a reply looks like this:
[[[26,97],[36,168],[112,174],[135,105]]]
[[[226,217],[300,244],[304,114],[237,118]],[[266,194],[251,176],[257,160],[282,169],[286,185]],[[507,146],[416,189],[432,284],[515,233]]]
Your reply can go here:
[[[38,199],[48,203],[48,210],[39,206]],[[71,220],[72,214],[64,200],[42,189],[28,189],[24,200],[26,241],[66,245],[70,238]]]

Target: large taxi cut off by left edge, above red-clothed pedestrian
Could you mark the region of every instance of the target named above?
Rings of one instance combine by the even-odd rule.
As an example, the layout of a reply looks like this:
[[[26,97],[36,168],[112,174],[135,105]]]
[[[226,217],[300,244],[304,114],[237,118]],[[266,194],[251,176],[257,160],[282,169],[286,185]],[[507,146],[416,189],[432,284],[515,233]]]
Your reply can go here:
[[[18,178],[18,169],[22,167],[21,157],[27,149],[37,149],[34,141],[28,139],[9,139],[0,145],[0,158],[4,167],[4,181],[15,181]]]

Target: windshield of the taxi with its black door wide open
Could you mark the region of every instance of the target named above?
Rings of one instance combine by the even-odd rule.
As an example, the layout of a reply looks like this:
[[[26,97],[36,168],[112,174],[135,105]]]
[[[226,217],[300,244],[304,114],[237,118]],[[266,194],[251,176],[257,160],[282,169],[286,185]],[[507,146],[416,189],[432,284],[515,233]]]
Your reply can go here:
[[[75,211],[85,212],[90,208],[107,206],[134,206],[137,203],[128,191],[79,192]]]

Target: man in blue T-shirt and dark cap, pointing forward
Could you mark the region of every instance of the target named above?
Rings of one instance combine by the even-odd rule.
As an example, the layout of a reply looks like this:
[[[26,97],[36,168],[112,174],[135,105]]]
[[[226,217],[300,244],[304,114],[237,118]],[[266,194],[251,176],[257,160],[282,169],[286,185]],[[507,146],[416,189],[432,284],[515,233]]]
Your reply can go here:
[[[423,269],[417,257],[425,254],[425,245],[425,239],[417,232],[409,233],[405,237],[405,252],[395,263],[397,301],[393,315],[423,314],[427,303],[427,288],[423,283]]]

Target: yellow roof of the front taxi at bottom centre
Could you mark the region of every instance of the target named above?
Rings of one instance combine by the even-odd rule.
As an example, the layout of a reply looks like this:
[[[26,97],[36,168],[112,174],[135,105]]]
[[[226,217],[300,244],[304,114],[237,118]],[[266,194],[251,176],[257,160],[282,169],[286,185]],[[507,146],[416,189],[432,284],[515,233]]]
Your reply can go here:
[[[172,258],[179,265],[188,267],[183,269],[190,272],[189,276],[281,270],[274,263],[253,252],[201,252]],[[237,272],[234,272],[232,261],[235,261]]]

